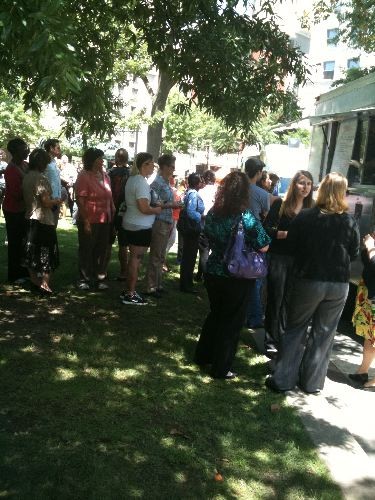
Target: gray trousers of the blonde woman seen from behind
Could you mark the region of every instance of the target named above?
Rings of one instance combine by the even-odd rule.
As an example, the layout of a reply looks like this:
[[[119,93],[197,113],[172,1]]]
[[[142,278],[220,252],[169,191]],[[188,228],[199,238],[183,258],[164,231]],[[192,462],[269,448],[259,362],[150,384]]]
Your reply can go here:
[[[297,383],[307,392],[323,389],[348,290],[348,283],[295,280],[273,374],[279,389],[293,389]]]

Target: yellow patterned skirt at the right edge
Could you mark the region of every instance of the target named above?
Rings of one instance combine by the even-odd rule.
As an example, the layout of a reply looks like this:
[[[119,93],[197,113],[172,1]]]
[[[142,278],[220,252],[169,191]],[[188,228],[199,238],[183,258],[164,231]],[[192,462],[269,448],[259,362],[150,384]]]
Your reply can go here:
[[[360,281],[357,288],[352,322],[357,335],[371,343],[375,342],[375,300],[368,298],[368,290],[363,281]]]

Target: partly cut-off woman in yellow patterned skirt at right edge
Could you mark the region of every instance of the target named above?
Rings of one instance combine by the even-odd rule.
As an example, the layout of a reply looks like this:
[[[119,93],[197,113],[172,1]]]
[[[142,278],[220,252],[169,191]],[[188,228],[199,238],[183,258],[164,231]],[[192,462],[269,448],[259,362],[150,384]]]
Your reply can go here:
[[[375,239],[367,234],[362,251],[362,281],[358,285],[353,314],[356,334],[364,337],[362,363],[349,377],[364,387],[375,387],[375,378],[368,379],[368,371],[375,359]]]

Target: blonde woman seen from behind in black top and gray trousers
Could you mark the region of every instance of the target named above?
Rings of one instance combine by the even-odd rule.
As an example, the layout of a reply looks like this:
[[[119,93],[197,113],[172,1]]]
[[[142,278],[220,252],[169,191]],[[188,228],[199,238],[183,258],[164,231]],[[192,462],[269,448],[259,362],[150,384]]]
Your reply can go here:
[[[359,253],[359,231],[348,213],[347,180],[323,179],[316,206],[302,210],[289,227],[294,283],[275,372],[266,380],[278,392],[323,389],[336,327],[349,289],[350,262]],[[308,326],[311,322],[311,329]]]

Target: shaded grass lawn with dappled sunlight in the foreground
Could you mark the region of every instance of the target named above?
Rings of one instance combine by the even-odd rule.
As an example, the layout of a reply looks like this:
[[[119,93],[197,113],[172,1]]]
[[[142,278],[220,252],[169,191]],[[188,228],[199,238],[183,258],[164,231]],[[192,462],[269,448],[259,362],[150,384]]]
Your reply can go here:
[[[39,297],[4,285],[4,234],[0,219],[1,498],[342,498],[294,410],[263,387],[246,332],[235,381],[192,363],[202,285],[180,294],[174,266],[147,307],[122,305],[116,281],[78,292],[71,228],[58,231],[57,293]]]

